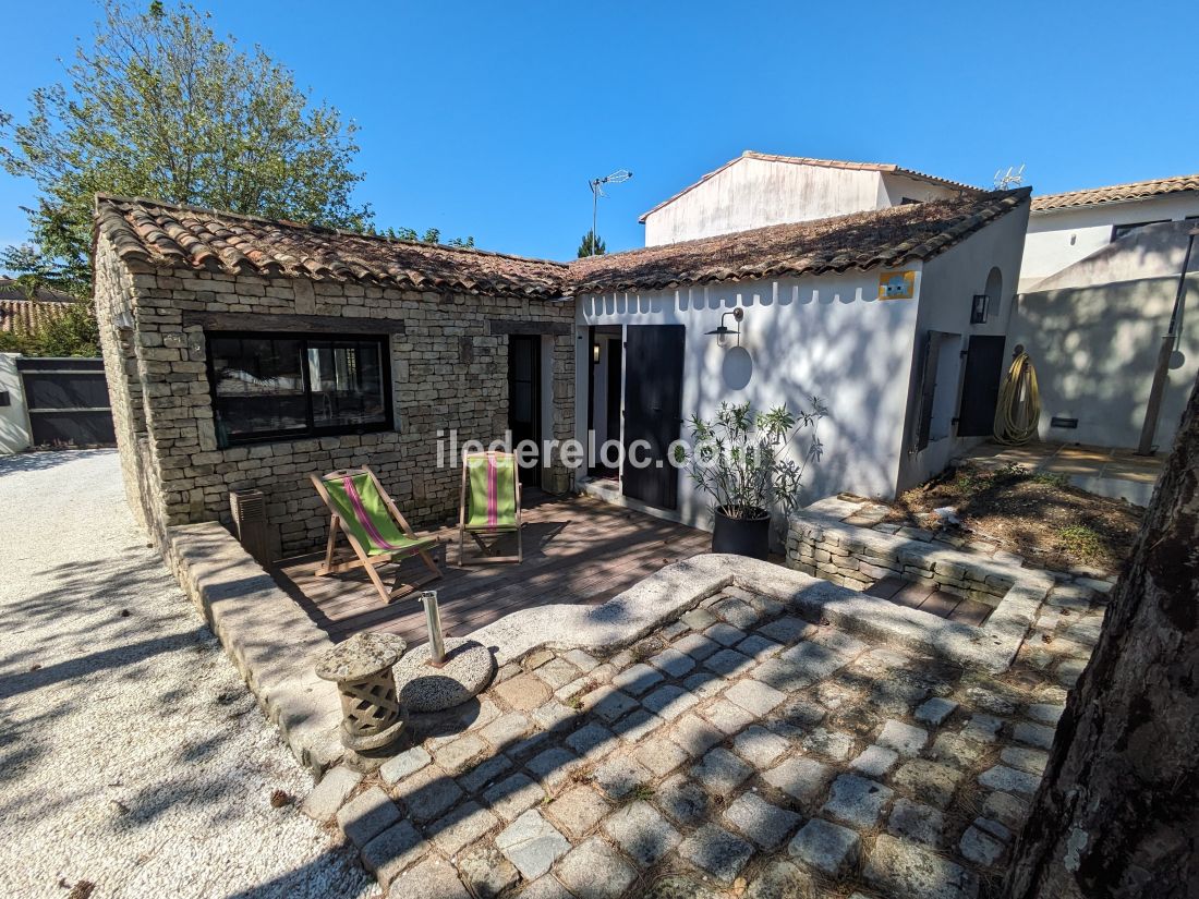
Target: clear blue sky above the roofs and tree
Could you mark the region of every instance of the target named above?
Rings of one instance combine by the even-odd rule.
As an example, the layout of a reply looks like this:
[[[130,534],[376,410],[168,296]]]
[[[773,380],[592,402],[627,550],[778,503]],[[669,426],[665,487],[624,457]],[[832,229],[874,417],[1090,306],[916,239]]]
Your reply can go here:
[[[199,2],[362,127],[380,227],[436,227],[554,259],[742,150],[894,162],[977,185],[1025,163],[1038,193],[1199,171],[1193,2]],[[6,14],[0,109],[61,78],[97,18]],[[0,243],[32,185],[0,174]]]

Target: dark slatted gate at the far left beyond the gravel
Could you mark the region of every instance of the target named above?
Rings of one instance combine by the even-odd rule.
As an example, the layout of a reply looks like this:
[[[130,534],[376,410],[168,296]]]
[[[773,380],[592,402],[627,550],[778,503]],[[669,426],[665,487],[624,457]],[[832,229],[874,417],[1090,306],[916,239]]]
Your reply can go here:
[[[103,360],[22,357],[17,370],[25,390],[34,446],[116,442]]]

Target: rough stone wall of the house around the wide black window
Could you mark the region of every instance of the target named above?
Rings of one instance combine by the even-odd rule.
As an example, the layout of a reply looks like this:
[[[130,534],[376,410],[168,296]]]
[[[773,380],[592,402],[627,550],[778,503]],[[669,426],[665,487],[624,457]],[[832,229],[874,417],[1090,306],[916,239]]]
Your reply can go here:
[[[574,433],[573,308],[519,297],[482,297],[264,278],[123,263],[103,236],[96,248],[96,306],[118,442],[131,505],[162,541],[167,527],[229,523],[229,491],[266,494],[276,553],[318,547],[327,513],[311,473],[369,464],[414,524],[457,517],[459,470],[446,453],[438,467],[438,432],[484,442],[507,428],[510,333],[542,334],[552,366],[553,428]],[[131,328],[121,327],[122,313]],[[306,321],[390,322],[394,429],[217,446],[205,321],[221,330],[305,332]],[[283,318],[288,316],[288,318]],[[341,322],[335,322],[338,328]],[[357,331],[356,331],[357,325]],[[570,472],[543,472],[552,491]]]

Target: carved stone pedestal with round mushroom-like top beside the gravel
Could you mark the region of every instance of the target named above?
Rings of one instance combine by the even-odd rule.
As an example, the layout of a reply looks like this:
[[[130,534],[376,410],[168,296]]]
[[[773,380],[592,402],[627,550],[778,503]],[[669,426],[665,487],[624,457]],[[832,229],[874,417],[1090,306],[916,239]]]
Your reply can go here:
[[[342,743],[348,749],[379,749],[404,729],[391,672],[408,644],[396,634],[360,633],[337,644],[317,663],[317,676],[336,681],[342,693]]]

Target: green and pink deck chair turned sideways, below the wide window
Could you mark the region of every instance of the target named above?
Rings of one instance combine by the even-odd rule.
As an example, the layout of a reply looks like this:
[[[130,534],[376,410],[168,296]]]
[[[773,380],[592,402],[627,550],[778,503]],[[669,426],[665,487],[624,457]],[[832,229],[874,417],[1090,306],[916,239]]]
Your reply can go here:
[[[385,603],[399,599],[441,577],[441,569],[429,550],[436,548],[436,537],[417,537],[382,489],[375,473],[361,469],[343,469],[323,476],[312,476],[317,493],[329,506],[329,542],[325,561],[317,574],[338,574],[351,568],[366,568],[367,577]],[[338,536],[344,535],[354,554],[338,553]],[[429,573],[414,583],[402,583],[399,573],[388,589],[379,577],[379,566],[420,556]]]

